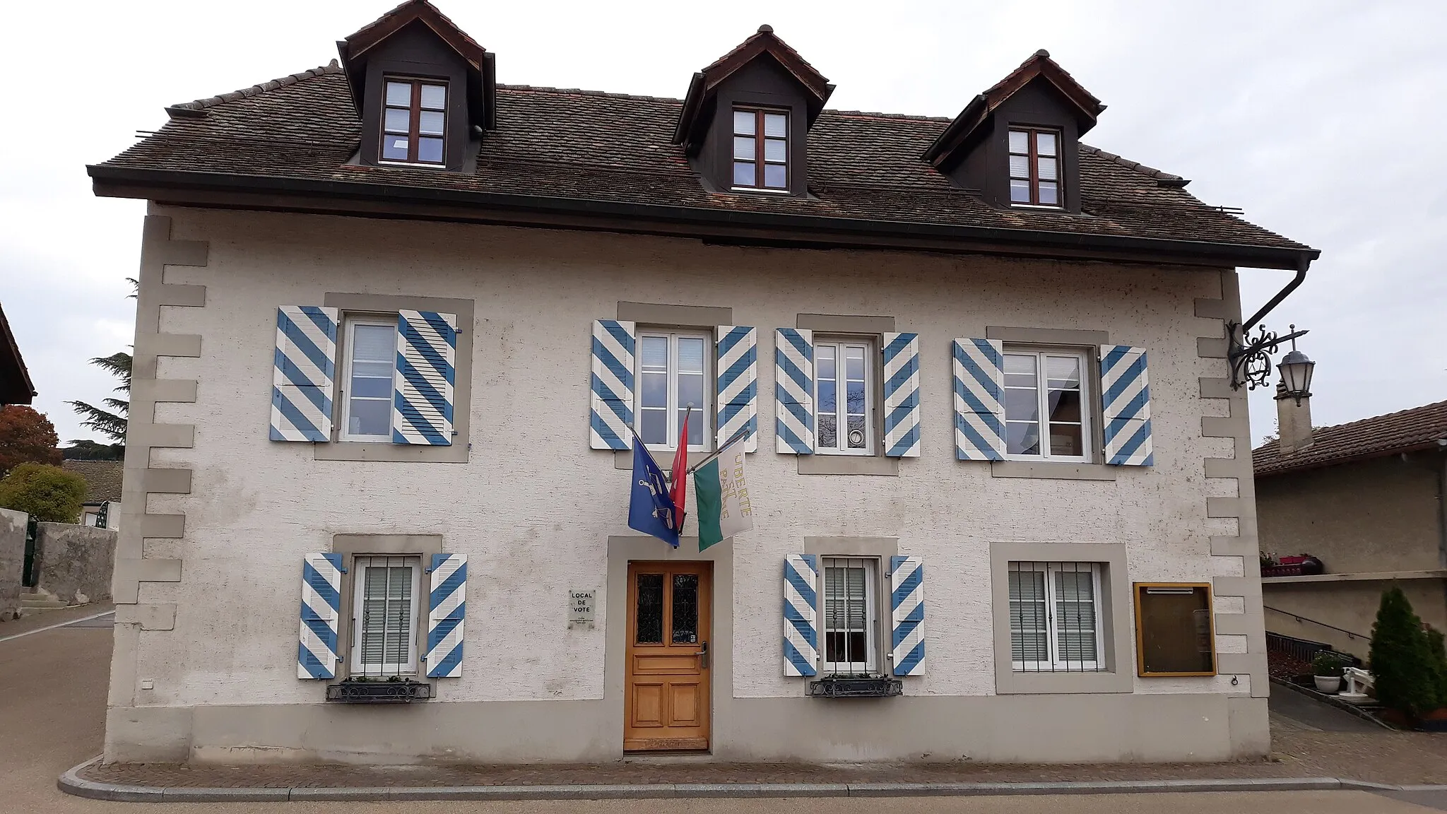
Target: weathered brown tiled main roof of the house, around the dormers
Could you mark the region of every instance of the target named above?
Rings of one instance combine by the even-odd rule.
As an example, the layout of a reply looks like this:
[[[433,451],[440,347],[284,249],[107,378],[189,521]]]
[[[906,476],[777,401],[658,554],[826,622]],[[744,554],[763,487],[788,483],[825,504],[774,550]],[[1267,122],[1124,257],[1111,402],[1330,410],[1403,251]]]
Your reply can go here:
[[[676,98],[498,85],[496,104],[472,172],[349,164],[362,126],[333,64],[177,106],[103,167],[1310,251],[1085,145],[1079,214],[988,206],[920,159],[948,125],[936,117],[825,110],[809,132],[805,198],[708,191],[671,143]]]

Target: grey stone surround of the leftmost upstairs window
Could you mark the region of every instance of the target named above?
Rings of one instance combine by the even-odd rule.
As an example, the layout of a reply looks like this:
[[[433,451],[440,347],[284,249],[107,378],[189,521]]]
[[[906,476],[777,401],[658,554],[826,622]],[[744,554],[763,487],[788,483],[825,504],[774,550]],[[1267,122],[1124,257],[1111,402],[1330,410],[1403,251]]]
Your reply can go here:
[[[336,384],[331,404],[331,442],[314,443],[315,461],[423,461],[431,463],[466,463],[472,450],[472,353],[473,353],[473,300],[451,300],[444,297],[405,297],[395,294],[346,294],[327,291],[323,306],[337,309],[337,361]],[[438,311],[457,314],[457,353],[454,356],[456,377],[453,382],[453,442],[449,446],[414,443],[386,443],[362,440],[337,440],[341,432],[343,404],[337,397],[343,387],[340,359],[347,352],[343,340],[349,314],[396,314],[401,310]]]

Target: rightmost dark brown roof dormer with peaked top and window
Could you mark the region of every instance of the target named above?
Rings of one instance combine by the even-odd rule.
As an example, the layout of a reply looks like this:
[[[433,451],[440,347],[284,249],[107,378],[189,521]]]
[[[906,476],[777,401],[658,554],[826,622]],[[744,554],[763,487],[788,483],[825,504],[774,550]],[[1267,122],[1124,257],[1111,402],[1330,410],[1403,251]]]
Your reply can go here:
[[[993,206],[1078,213],[1079,138],[1103,110],[1040,49],[972,98],[923,158]]]

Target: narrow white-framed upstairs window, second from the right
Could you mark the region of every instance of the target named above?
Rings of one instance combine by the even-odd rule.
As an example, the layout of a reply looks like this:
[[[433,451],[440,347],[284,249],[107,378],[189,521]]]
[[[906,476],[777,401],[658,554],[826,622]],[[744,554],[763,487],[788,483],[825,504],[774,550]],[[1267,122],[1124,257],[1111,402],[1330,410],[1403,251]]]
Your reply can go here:
[[[874,455],[874,343],[815,337],[815,452]]]

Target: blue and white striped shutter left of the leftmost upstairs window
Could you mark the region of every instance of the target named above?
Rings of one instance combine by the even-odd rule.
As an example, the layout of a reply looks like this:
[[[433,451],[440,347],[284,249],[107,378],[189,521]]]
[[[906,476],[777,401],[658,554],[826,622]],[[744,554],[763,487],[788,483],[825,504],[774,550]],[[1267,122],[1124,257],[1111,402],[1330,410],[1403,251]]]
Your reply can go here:
[[[337,310],[276,309],[271,440],[331,440],[331,381],[337,359]]]

